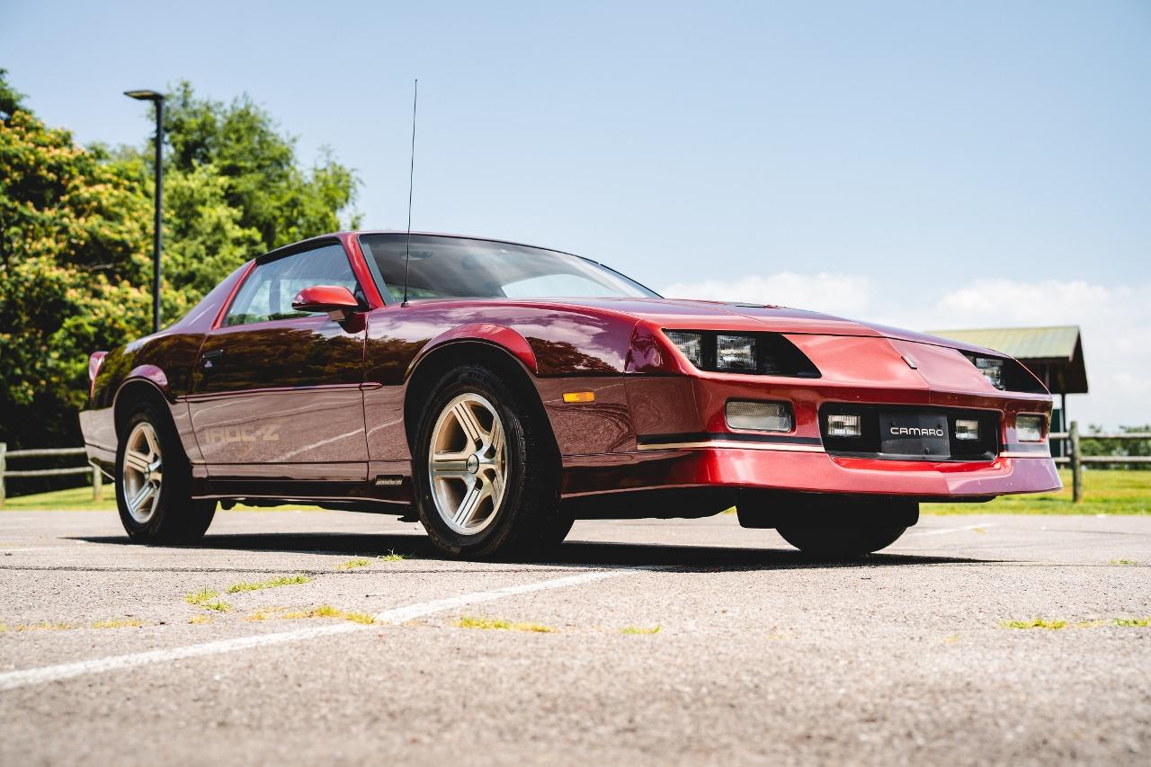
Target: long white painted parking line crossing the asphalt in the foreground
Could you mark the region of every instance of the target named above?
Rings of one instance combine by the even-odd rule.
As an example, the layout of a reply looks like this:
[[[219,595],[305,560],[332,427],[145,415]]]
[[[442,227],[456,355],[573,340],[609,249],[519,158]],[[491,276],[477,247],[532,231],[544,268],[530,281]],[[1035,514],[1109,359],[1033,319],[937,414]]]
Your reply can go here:
[[[427,602],[417,602],[383,610],[374,616],[375,623],[338,623],[335,625],[322,625],[298,631],[283,631],[280,633],[265,633],[254,637],[237,637],[235,639],[221,639],[219,641],[205,641],[199,645],[188,645],[184,647],[171,647],[168,650],[152,650],[143,653],[131,653],[129,655],[113,655],[110,658],[98,658],[94,660],[78,661],[75,663],[59,663],[56,666],[43,666],[40,668],[23,669],[20,671],[8,671],[0,674],[0,690],[15,690],[32,684],[45,682],[56,682],[59,679],[70,679],[87,674],[104,674],[106,671],[117,671],[121,669],[146,666],[148,663],[162,663],[165,661],[183,660],[185,658],[199,658],[203,655],[219,655],[221,653],[247,650],[249,647],[262,647],[265,645],[279,645],[285,641],[299,641],[303,639],[314,639],[334,633],[350,633],[371,629],[376,624],[394,624],[412,618],[432,615],[450,610],[453,607],[489,602],[504,597],[517,594],[528,594],[536,591],[550,588],[566,588],[585,583],[594,583],[607,578],[617,578],[625,575],[643,572],[649,568],[620,568],[617,570],[595,570],[593,572],[580,572],[578,575],[564,576],[562,578],[550,578],[536,583],[521,584],[518,586],[504,586],[490,591],[478,591],[448,599],[435,599]]]

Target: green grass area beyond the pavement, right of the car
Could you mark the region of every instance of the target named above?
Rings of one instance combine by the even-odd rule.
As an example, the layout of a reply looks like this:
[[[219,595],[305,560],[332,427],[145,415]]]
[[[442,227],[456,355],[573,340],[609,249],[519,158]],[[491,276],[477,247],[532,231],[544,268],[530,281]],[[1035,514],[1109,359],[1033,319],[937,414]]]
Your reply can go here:
[[[1151,471],[1087,469],[1083,501],[1072,501],[1072,472],[1060,469],[1064,489],[1036,495],[1000,495],[988,503],[922,503],[922,514],[1108,514],[1151,515]]]

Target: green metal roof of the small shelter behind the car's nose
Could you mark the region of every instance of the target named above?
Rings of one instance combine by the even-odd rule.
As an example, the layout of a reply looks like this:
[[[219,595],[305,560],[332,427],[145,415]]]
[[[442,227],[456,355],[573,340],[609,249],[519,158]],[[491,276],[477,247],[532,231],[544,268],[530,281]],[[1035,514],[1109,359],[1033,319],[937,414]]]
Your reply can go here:
[[[1085,394],[1088,390],[1083,342],[1075,325],[928,332],[1014,357],[1052,392]]]

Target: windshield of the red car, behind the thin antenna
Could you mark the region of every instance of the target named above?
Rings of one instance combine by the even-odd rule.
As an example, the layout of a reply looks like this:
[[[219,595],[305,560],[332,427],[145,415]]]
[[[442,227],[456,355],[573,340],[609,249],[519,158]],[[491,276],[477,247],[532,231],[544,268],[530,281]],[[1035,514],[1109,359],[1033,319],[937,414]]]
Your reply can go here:
[[[360,236],[388,303],[404,295],[406,235]],[[407,298],[658,298],[595,261],[542,248],[487,240],[412,235]]]

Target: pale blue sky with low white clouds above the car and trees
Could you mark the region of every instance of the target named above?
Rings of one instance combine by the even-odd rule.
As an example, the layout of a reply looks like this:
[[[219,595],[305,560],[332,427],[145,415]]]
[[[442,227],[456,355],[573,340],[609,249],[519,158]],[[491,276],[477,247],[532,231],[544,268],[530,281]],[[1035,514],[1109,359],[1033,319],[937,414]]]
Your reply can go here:
[[[0,0],[0,67],[82,142],[146,137],[128,88],[247,92],[380,228],[419,77],[417,228],[674,295],[1078,322],[1077,415],[1151,420],[1151,3]]]

